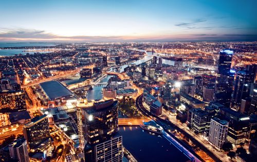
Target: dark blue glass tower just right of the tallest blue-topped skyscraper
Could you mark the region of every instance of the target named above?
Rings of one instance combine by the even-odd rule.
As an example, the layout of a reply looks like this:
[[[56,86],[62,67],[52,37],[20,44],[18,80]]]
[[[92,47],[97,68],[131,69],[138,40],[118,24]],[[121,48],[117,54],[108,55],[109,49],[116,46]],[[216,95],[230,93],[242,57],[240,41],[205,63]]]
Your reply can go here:
[[[251,84],[254,81],[253,76],[254,73],[246,70],[236,72],[231,107],[239,107],[241,100],[250,96]]]

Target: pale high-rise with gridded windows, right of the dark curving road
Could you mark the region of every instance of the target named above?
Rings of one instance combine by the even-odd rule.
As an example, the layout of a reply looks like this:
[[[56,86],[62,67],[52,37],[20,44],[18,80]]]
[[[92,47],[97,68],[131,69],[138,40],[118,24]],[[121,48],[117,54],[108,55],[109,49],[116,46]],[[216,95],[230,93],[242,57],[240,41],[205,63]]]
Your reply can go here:
[[[216,117],[211,119],[210,131],[208,140],[211,145],[221,150],[227,139],[229,123],[226,120],[221,120]]]

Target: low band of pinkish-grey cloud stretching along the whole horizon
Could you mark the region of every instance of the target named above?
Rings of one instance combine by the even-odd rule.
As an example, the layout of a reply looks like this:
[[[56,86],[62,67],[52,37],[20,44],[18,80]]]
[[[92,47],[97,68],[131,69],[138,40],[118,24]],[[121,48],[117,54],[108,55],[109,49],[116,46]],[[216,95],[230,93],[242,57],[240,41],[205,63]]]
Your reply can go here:
[[[200,21],[198,21],[200,22]],[[196,28],[196,27],[195,27]],[[199,27],[201,28],[201,27]],[[211,27],[202,27],[208,29]],[[256,41],[256,34],[215,34],[215,33],[203,33],[203,34],[149,34],[140,35],[139,33],[133,33],[131,35],[120,35],[120,36],[63,36],[53,34],[44,30],[35,29],[1,29],[0,28],[0,40],[16,40],[16,41],[106,41],[106,42],[124,42],[124,41],[191,41],[191,40],[209,40],[209,41]]]

